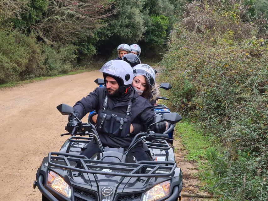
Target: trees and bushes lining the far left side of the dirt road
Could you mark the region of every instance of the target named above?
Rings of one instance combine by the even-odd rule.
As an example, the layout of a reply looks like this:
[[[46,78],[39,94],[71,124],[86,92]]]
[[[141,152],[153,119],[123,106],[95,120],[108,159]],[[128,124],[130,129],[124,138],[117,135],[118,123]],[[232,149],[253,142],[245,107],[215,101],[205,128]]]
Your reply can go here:
[[[96,54],[117,55],[121,43],[155,58],[176,7],[174,0],[3,0],[0,83],[68,72]]]

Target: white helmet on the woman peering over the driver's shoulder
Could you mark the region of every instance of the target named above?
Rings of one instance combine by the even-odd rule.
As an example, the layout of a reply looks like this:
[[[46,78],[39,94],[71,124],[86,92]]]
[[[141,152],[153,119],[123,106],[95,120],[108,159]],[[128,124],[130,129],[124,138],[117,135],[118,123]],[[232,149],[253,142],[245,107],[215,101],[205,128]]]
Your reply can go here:
[[[156,82],[156,73],[152,67],[147,64],[141,63],[134,66],[133,73],[134,77],[139,75],[144,75],[148,83],[152,87]]]

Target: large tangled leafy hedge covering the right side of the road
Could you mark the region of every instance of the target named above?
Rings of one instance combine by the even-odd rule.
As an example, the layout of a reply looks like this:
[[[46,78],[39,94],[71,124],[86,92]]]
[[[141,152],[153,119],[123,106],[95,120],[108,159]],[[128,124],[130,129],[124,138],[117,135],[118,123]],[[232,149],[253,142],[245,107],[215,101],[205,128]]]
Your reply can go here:
[[[170,106],[219,143],[208,152],[213,191],[224,200],[268,200],[268,41],[255,38],[249,6],[211,2],[185,6],[162,80],[173,86]]]

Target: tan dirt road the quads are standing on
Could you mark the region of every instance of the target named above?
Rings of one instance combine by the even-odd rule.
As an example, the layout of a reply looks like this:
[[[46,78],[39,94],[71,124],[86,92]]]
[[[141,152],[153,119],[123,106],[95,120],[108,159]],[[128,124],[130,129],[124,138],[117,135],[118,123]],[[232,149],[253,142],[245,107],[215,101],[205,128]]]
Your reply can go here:
[[[43,157],[50,151],[58,151],[69,137],[60,137],[65,133],[68,117],[61,115],[56,106],[61,103],[73,106],[96,88],[93,82],[96,78],[102,78],[99,71],[0,89],[1,201],[41,201],[38,188],[33,189],[36,170]],[[86,117],[82,121],[86,122]],[[182,171],[194,169],[183,158],[177,160]],[[196,181],[184,180],[184,183],[184,194],[196,193]]]

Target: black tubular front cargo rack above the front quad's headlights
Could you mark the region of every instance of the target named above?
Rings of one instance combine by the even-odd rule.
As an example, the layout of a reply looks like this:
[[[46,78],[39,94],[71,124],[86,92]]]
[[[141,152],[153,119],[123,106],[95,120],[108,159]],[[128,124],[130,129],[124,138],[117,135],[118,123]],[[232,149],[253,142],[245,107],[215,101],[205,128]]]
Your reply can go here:
[[[177,167],[176,163],[171,161],[143,160],[137,163],[123,163],[118,157],[115,158],[118,158],[120,162],[103,161],[105,157],[115,156],[104,156],[100,160],[91,160],[84,155],[50,152],[48,154],[48,164],[50,166],[83,173],[121,177],[169,177],[174,175],[174,171]],[[81,167],[72,166],[70,162],[73,164],[80,163]],[[93,169],[105,169],[105,171],[96,171]],[[126,171],[127,173],[116,171]],[[159,173],[160,171],[164,171],[165,173]]]

